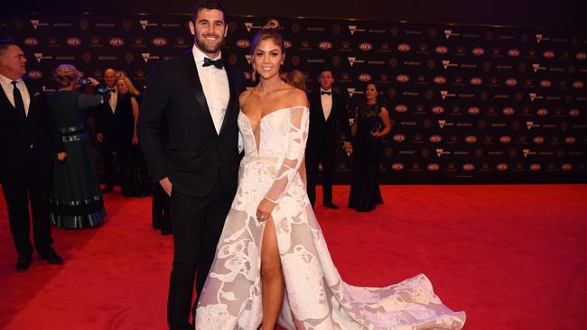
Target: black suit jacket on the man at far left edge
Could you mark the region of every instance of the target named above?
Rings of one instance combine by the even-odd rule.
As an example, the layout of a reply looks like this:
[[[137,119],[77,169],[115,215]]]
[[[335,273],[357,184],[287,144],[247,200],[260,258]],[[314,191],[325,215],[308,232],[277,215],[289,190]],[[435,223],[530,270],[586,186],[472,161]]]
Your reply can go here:
[[[30,161],[40,170],[51,169],[55,153],[65,151],[42,87],[23,81],[31,96],[28,115],[17,111],[0,89],[0,180],[29,168]]]

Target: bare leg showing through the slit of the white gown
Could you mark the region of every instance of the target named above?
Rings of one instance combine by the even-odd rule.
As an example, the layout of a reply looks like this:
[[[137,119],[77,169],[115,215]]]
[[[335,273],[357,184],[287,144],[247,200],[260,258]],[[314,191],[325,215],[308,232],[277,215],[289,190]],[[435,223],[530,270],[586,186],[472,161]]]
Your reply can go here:
[[[277,248],[273,219],[266,220],[261,247],[261,282],[263,284],[263,325],[261,330],[274,330],[284,301],[284,275]]]

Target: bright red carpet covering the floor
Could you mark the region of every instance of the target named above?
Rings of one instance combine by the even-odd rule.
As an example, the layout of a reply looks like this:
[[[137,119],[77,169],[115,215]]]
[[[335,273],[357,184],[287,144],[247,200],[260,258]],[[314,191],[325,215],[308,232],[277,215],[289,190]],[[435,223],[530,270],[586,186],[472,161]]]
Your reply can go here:
[[[587,328],[587,185],[386,186],[358,214],[317,207],[340,274],[384,286],[424,272],[466,329]],[[345,205],[348,187],[335,188]],[[165,329],[172,237],[151,199],[106,196],[107,224],[53,230],[61,266],[14,270],[0,201],[0,328]],[[320,202],[320,201],[319,201]]]

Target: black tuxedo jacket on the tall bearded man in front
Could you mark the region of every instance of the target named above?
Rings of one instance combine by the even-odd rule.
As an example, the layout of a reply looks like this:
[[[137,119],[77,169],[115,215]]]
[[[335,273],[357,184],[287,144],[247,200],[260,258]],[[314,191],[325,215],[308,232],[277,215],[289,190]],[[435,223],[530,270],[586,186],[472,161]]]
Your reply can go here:
[[[227,65],[230,97],[220,133],[216,132],[191,50],[160,62],[151,72],[138,118],[139,144],[159,181],[169,177],[173,190],[206,196],[217,179],[225,191],[237,191],[238,96],[243,73]],[[162,143],[162,128],[167,136]]]

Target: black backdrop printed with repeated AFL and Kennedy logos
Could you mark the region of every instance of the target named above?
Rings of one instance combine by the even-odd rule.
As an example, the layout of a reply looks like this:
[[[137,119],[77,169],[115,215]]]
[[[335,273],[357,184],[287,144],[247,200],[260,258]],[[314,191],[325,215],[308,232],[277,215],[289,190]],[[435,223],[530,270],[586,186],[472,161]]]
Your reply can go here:
[[[191,49],[187,15],[0,16],[2,38],[23,45],[31,78],[47,90],[59,64],[100,78],[107,68],[147,84],[160,60]],[[587,174],[587,34],[491,26],[279,18],[284,71],[309,92],[322,68],[349,117],[375,81],[392,129],[384,182],[451,178],[584,180]],[[266,18],[228,17],[223,57],[245,71]],[[252,86],[252,83],[249,84]],[[89,115],[89,128],[92,118]],[[340,148],[336,177],[352,160]]]

